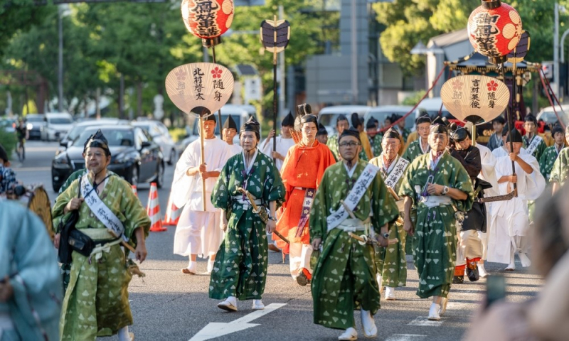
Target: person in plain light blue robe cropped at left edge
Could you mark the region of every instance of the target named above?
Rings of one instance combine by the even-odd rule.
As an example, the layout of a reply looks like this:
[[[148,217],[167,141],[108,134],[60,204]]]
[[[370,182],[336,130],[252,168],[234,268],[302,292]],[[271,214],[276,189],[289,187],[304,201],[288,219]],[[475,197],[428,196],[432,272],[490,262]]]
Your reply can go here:
[[[59,340],[61,277],[43,222],[0,200],[0,340]]]

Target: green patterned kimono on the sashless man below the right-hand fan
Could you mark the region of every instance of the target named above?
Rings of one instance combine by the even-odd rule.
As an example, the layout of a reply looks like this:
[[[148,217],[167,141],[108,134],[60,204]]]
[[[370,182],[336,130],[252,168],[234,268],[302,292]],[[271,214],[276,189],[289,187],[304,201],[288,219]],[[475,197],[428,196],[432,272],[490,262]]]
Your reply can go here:
[[[446,151],[437,163],[438,171],[432,183],[447,185],[467,193],[466,200],[452,199],[451,205],[427,207],[420,195],[430,174],[431,153],[415,158],[403,175],[400,197],[410,197],[417,207],[413,235],[413,261],[419,274],[420,298],[447,297],[457,259],[457,221],[454,209],[467,212],[474,202],[474,190],[462,164]],[[435,167],[435,168],[436,168]]]

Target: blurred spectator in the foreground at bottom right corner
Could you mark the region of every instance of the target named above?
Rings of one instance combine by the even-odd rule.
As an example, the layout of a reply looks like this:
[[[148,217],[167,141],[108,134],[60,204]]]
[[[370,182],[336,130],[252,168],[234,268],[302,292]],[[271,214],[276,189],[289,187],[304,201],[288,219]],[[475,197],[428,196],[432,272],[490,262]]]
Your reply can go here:
[[[464,340],[567,340],[569,335],[569,186],[540,200],[533,233],[533,264],[546,284],[526,302],[498,301],[484,310]]]

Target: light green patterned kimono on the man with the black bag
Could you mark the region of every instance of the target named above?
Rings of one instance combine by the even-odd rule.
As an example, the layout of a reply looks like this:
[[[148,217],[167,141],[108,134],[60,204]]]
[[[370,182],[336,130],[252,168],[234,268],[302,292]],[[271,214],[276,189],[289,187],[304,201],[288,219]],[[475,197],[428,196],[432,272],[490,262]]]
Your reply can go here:
[[[77,197],[80,180],[73,181],[55,201],[52,211],[54,226],[67,216],[63,208]],[[127,181],[117,175],[110,176],[107,181],[99,197],[124,224],[124,235],[129,238],[129,244],[135,247],[135,229],[142,227],[144,234],[148,235],[150,219],[147,211],[132,193]],[[79,209],[75,228],[107,229],[85,202]],[[95,340],[97,336],[110,336],[132,325],[128,295],[132,276],[120,245],[102,252],[102,258],[98,261],[95,261],[95,256],[86,257],[75,251],[72,258],[70,281],[60,320],[61,340]]]

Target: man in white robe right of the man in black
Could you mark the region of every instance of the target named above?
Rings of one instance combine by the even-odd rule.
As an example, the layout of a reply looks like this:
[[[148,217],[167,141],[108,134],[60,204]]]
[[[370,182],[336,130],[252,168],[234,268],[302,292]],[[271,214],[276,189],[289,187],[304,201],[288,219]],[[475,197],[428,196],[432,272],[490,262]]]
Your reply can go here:
[[[546,188],[535,157],[520,152],[523,140],[516,129],[512,129],[508,140],[514,148],[509,156],[496,159],[496,178],[499,195],[506,195],[517,185],[517,196],[511,200],[492,202],[491,230],[488,236],[488,261],[508,264],[506,270],[516,269],[514,253],[517,252],[522,266],[530,266],[528,251],[528,229],[530,227],[528,200],[536,200]],[[512,175],[511,161],[514,161],[516,175]]]

